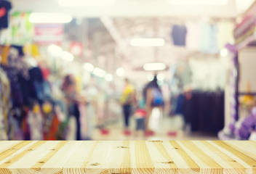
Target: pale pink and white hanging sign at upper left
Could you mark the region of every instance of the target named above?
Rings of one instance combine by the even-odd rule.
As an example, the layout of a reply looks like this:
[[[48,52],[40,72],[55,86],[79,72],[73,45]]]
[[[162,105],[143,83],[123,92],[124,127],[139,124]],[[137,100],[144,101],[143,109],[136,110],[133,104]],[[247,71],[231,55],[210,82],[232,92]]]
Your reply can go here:
[[[36,24],[34,41],[37,44],[60,44],[63,41],[63,24]]]

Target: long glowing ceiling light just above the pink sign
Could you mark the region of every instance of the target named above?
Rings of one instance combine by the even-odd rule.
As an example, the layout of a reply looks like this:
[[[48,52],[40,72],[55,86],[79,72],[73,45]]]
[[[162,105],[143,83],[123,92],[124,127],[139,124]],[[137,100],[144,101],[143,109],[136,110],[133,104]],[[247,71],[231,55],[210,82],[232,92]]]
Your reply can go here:
[[[31,13],[29,21],[31,23],[68,23],[72,17],[64,13]]]

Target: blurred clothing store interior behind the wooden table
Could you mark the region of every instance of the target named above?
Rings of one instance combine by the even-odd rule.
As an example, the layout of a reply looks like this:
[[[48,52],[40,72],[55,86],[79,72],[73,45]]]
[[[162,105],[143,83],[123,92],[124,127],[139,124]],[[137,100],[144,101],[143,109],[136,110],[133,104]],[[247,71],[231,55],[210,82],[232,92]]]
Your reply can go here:
[[[0,0],[0,140],[256,140],[256,1]]]

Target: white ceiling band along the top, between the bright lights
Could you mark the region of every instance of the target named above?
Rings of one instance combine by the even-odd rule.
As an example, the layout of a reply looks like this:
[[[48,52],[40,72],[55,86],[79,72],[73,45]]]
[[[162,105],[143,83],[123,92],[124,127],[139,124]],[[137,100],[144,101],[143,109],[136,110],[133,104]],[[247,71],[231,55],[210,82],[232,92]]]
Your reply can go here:
[[[209,6],[171,5],[167,0],[116,0],[111,7],[60,7],[57,0],[12,0],[12,4],[18,11],[68,12],[75,17],[236,17],[238,14],[236,0]]]

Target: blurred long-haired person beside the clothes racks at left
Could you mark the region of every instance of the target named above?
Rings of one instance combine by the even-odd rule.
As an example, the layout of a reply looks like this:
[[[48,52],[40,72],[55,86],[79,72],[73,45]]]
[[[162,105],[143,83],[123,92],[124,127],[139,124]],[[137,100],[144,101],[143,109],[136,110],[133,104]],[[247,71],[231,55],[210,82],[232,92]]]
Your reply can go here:
[[[81,140],[79,104],[85,103],[86,100],[76,91],[76,79],[73,75],[65,76],[62,91],[65,96],[66,106],[68,107],[68,118],[76,118],[76,140]]]

